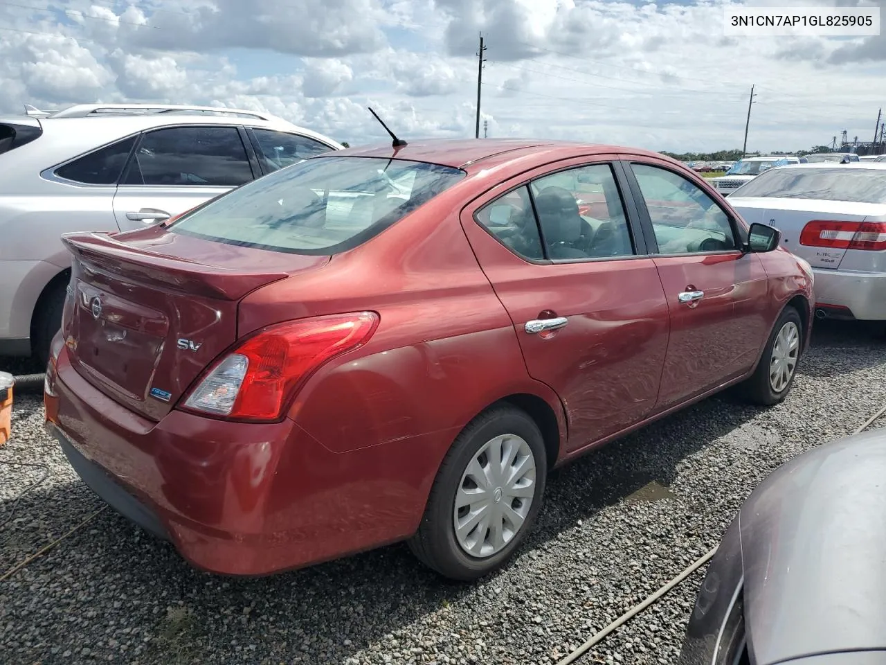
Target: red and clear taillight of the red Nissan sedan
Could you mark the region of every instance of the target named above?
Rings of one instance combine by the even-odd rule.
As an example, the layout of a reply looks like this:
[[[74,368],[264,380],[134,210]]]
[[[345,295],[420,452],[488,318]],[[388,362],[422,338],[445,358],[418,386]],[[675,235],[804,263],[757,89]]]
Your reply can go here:
[[[271,325],[216,361],[190,389],[183,408],[227,419],[280,419],[310,374],[364,344],[377,325],[374,312]]]

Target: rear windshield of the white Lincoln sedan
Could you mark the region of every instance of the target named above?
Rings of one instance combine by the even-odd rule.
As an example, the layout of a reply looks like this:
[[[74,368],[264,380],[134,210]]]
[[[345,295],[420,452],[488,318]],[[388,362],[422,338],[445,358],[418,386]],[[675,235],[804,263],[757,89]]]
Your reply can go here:
[[[751,180],[732,196],[886,203],[886,170],[779,168]]]

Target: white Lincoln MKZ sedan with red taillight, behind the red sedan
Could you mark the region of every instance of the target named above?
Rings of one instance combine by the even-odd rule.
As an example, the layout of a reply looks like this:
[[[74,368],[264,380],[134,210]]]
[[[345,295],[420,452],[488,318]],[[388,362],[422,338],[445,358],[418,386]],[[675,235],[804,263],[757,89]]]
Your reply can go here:
[[[729,201],[812,264],[817,316],[886,320],[886,164],[781,167]]]

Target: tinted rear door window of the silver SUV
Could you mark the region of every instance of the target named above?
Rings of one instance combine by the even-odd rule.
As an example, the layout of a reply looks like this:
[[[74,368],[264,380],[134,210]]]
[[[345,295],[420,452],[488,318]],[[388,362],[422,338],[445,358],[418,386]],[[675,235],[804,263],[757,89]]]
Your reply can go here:
[[[236,187],[252,179],[237,127],[168,127],[144,134],[123,184]]]

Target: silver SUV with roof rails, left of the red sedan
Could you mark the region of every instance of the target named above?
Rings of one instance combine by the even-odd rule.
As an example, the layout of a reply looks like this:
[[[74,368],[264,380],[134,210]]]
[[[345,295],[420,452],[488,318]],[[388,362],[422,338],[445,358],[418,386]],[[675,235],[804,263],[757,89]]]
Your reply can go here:
[[[0,356],[43,363],[68,231],[129,231],[344,146],[266,113],[208,106],[28,107],[0,116]]]

